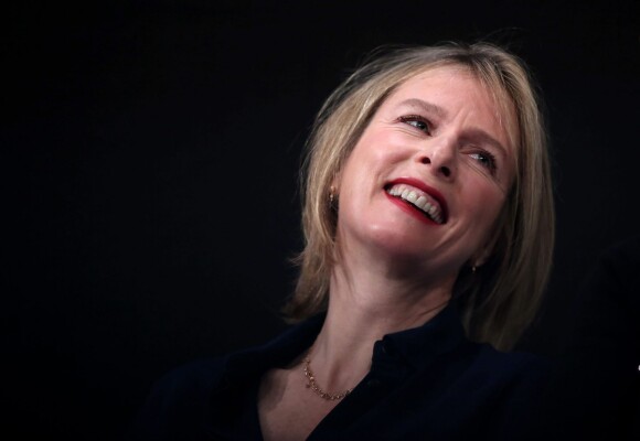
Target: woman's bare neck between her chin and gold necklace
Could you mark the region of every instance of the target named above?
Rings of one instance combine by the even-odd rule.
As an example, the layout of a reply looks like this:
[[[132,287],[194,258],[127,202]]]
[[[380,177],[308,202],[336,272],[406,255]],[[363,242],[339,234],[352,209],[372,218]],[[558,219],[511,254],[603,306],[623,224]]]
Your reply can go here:
[[[371,367],[375,342],[434,318],[450,300],[452,282],[433,286],[337,265],[327,319],[310,353],[318,383],[329,390],[354,387]]]

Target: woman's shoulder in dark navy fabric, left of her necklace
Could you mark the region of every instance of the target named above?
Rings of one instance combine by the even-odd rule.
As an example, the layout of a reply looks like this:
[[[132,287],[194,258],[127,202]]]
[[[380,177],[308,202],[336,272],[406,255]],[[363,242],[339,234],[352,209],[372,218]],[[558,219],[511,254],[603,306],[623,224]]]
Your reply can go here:
[[[195,440],[205,438],[226,416],[239,415],[252,387],[310,344],[321,321],[308,321],[271,341],[224,356],[180,365],[156,381],[134,421],[130,440]]]

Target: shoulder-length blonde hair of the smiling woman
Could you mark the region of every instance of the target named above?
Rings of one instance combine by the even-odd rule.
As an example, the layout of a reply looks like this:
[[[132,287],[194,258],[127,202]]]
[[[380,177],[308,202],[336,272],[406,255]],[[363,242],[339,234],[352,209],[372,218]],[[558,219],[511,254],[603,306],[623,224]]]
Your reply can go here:
[[[497,227],[492,256],[472,273],[462,268],[459,299],[469,338],[511,348],[535,318],[546,287],[555,215],[546,131],[540,98],[525,64],[488,43],[402,47],[373,53],[326,100],[307,143],[301,186],[305,249],[294,295],[284,308],[290,321],[327,309],[338,213],[330,185],[381,104],[408,78],[430,68],[460,66],[481,82],[518,128],[515,178]]]

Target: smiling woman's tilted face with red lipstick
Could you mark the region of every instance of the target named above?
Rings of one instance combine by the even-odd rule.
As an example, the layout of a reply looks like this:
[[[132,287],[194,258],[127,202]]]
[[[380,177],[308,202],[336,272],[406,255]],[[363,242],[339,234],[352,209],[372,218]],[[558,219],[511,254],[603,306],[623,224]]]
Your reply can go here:
[[[459,67],[402,84],[334,182],[342,256],[361,256],[365,247],[407,270],[450,280],[465,262],[481,265],[514,173],[502,125],[513,119],[500,108]]]

